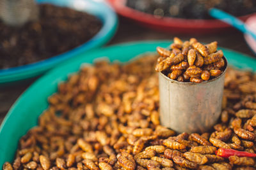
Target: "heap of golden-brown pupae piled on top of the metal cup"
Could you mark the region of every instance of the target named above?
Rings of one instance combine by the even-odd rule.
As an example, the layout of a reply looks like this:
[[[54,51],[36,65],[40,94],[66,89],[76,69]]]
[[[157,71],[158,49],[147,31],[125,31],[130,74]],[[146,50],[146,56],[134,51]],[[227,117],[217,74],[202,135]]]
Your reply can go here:
[[[162,71],[172,80],[201,83],[220,76],[225,66],[222,50],[217,42],[202,45],[195,38],[184,43],[174,38],[171,50],[157,47],[160,57],[156,71]]]

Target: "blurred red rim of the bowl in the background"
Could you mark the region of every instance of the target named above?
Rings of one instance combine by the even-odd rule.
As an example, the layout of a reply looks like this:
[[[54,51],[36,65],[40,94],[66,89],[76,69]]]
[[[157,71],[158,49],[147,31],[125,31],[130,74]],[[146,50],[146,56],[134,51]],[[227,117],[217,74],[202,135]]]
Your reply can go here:
[[[109,4],[116,10],[119,15],[129,18],[138,22],[141,25],[151,27],[167,32],[182,32],[182,33],[193,33],[202,34],[209,32],[225,31],[232,28],[230,25],[221,22],[220,20],[202,20],[202,19],[184,19],[184,18],[172,18],[163,17],[156,18],[154,15],[143,13],[138,10],[127,7],[127,0],[107,0]],[[245,21],[248,17],[252,16],[244,15],[239,19]]]

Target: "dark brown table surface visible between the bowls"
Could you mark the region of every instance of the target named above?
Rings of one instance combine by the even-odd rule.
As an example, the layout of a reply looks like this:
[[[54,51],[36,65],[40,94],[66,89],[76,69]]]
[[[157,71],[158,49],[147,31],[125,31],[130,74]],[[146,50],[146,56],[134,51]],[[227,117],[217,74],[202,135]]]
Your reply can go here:
[[[204,43],[210,43],[211,41],[218,41],[219,46],[236,50],[237,52],[246,53],[256,57],[250,48],[244,41],[243,34],[236,31],[235,29],[228,32],[219,32],[216,34],[204,34],[204,35],[193,35],[193,34],[175,34],[166,33],[160,31],[154,31],[146,27],[134,24],[133,22],[120,18],[118,31],[108,45],[114,45],[116,43],[124,43],[129,41],[143,41],[143,40],[154,40],[154,39],[173,39],[177,36],[181,39],[189,39],[195,37],[199,41]],[[16,99],[26,90],[33,81],[36,79],[12,85],[9,87],[0,87],[0,122],[3,121],[4,116],[16,101]],[[29,103],[29,101],[28,101]]]

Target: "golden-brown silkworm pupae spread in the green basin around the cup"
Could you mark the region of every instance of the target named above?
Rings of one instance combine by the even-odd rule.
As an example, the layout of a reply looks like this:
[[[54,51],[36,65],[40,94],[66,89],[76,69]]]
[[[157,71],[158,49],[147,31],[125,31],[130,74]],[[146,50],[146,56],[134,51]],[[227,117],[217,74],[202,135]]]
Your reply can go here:
[[[256,75],[228,68],[218,124],[176,134],[159,122],[156,61],[150,53],[125,65],[102,60],[72,74],[3,169],[255,169],[253,158],[215,152],[256,152]]]

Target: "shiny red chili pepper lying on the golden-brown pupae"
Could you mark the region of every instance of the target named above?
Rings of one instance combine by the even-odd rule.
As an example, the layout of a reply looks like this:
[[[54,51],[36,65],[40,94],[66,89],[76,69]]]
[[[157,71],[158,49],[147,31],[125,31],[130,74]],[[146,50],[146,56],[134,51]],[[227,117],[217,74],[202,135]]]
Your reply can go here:
[[[228,158],[233,155],[236,155],[237,157],[256,157],[256,153],[241,152],[238,150],[225,149],[225,148],[220,148],[216,150],[215,154],[224,158]]]

